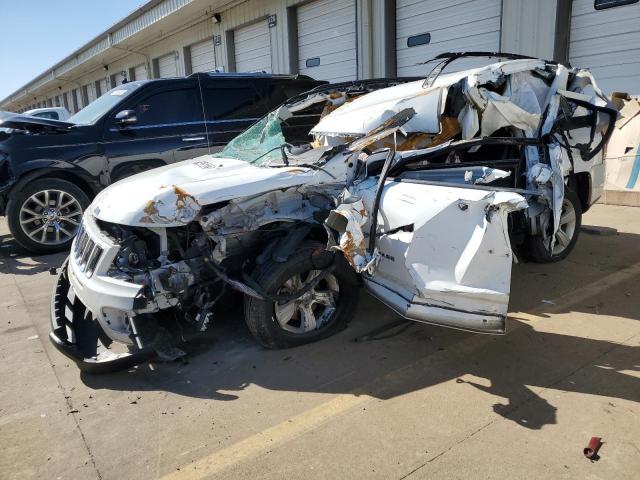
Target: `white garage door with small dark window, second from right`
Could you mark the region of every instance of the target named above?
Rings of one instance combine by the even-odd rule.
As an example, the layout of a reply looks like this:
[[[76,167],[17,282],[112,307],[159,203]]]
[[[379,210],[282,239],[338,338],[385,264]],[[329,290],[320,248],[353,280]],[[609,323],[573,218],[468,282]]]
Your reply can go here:
[[[416,63],[443,52],[499,51],[501,4],[501,0],[396,0],[398,76],[426,75],[433,65]],[[460,60],[446,71],[471,63]]]

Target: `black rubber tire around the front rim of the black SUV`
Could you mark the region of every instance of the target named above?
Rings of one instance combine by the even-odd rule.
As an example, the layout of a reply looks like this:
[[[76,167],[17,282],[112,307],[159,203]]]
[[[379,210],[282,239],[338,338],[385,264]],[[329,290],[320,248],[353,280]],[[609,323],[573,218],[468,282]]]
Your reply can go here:
[[[73,218],[70,217],[69,220],[62,220],[59,222],[66,232],[72,233],[70,238],[66,238],[67,234],[62,233],[61,239],[56,241],[55,233],[52,233],[51,235],[47,234],[47,237],[52,237],[50,241],[46,238],[45,241],[42,242],[40,241],[41,235],[33,235],[33,232],[31,232],[33,237],[29,236],[27,228],[31,227],[33,224],[29,224],[29,227],[27,227],[27,224],[23,225],[21,222],[21,215],[24,215],[23,207],[26,207],[27,202],[34,194],[43,191],[63,192],[64,196],[62,197],[62,200],[64,203],[68,202],[70,199],[75,199],[77,201],[77,204],[72,204],[75,208]],[[26,183],[22,188],[17,189],[10,197],[9,202],[7,203],[7,223],[9,224],[9,230],[11,231],[15,241],[29,252],[46,254],[68,250],[78,227],[74,223],[79,224],[81,220],[81,215],[77,215],[77,208],[79,207],[80,213],[82,213],[89,206],[89,203],[90,200],[86,193],[73,183],[59,178],[39,178]],[[67,210],[63,208],[61,212],[69,213],[71,215],[69,212],[70,208],[71,207],[68,207]],[[34,229],[39,225],[41,224],[36,224]]]

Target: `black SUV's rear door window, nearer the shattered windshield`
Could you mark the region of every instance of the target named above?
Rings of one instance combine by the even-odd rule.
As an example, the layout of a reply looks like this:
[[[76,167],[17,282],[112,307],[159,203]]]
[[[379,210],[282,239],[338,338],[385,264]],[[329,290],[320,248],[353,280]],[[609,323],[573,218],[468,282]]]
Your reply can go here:
[[[207,120],[260,118],[267,107],[253,85],[244,82],[210,82],[205,86]]]

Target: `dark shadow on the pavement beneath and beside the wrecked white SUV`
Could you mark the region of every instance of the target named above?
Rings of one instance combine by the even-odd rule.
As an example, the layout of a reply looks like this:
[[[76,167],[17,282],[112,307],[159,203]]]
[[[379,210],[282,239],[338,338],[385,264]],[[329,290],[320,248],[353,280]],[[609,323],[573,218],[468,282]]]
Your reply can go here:
[[[517,265],[512,287],[516,308],[511,310],[544,317],[536,313],[538,307],[544,299],[564,293],[560,283],[575,289],[640,262],[640,252],[634,252],[639,241],[630,234],[585,235],[565,262]],[[603,251],[612,256],[599,264]],[[557,278],[562,282],[556,283]],[[601,314],[597,318],[606,321],[614,317],[640,320],[638,302],[625,295],[627,289],[637,292],[639,280],[616,285],[599,296],[611,300],[596,305],[581,302],[566,312]],[[362,292],[358,314],[345,331],[315,344],[271,351],[250,337],[240,306],[232,304],[194,347],[188,364],[155,364],[153,370],[141,365],[102,376],[82,374],[82,381],[95,389],[160,390],[219,401],[237,399],[251,384],[276,391],[389,399],[454,382],[461,395],[469,388],[488,394],[487,401],[495,402],[491,407],[495,413],[529,429],[556,422],[556,407],[537,393],[543,389],[640,402],[640,378],[630,373],[640,371],[640,347],[571,333],[536,331],[519,318],[510,319],[509,333],[500,337],[402,322]]]

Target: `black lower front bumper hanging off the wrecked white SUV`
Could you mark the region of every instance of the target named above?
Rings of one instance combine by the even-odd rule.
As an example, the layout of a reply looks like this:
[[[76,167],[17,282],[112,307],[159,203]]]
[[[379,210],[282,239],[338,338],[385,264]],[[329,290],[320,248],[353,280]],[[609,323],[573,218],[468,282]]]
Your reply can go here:
[[[151,359],[155,355],[153,348],[138,349],[132,345],[128,351],[112,349],[114,342],[69,282],[68,262],[65,260],[60,269],[51,297],[49,338],[53,345],[88,373],[113,372]]]

